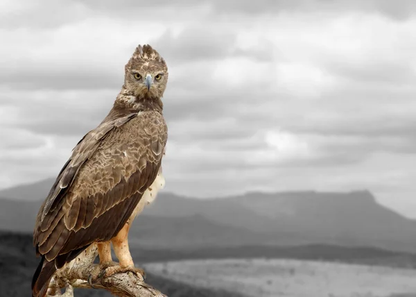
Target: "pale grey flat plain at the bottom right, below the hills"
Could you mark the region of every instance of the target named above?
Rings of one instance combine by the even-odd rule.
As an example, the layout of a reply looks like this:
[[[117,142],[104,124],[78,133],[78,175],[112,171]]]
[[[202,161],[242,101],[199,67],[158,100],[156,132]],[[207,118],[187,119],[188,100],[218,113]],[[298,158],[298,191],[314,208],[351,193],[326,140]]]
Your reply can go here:
[[[416,297],[416,270],[284,259],[184,260],[146,271],[257,297]]]

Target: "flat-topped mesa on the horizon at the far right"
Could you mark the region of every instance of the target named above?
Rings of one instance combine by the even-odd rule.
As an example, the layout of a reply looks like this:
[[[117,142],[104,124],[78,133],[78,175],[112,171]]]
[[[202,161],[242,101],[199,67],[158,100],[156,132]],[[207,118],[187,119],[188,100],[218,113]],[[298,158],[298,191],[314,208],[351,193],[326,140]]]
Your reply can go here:
[[[325,243],[416,251],[416,221],[380,205],[365,190],[253,192],[229,200],[272,219],[277,231],[313,235]]]

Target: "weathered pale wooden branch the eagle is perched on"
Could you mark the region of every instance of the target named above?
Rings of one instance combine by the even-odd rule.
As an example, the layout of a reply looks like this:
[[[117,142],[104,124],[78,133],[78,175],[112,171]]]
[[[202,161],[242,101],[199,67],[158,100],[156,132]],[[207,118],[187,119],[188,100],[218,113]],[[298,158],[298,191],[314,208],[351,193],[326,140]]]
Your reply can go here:
[[[108,278],[100,278],[89,285],[91,275],[97,275],[100,271],[94,260],[98,255],[97,247],[92,244],[80,256],[58,270],[48,289],[48,296],[73,297],[73,288],[105,289],[115,296],[120,297],[166,297],[152,286],[146,284],[141,275],[133,273],[116,273]],[[61,294],[61,289],[65,289]]]

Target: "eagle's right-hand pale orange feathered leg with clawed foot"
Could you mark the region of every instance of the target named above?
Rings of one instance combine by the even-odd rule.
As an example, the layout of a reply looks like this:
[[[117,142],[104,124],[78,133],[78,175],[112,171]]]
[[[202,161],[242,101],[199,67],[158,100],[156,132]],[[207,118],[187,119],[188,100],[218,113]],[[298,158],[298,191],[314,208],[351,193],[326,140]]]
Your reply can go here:
[[[128,230],[130,229],[130,222],[126,223],[124,227],[120,230],[119,234],[111,239],[114,253],[116,254],[117,259],[119,259],[119,265],[110,266],[105,269],[105,273],[102,275],[104,278],[109,276],[122,273],[122,272],[132,272],[138,275],[141,275],[141,278],[146,278],[146,273],[141,268],[135,267],[133,262],[132,255],[128,248]]]

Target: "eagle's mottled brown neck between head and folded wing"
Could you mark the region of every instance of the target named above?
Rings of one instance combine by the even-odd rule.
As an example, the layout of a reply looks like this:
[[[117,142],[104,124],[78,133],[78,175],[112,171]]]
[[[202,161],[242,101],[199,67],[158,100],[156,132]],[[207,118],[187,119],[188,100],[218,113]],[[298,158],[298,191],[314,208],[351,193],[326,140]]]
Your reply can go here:
[[[108,113],[107,117],[105,117],[104,121],[109,121],[123,117],[127,114],[145,110],[155,110],[162,114],[162,100],[160,98],[135,96],[123,86],[116,98],[116,101],[114,101],[112,109]]]

